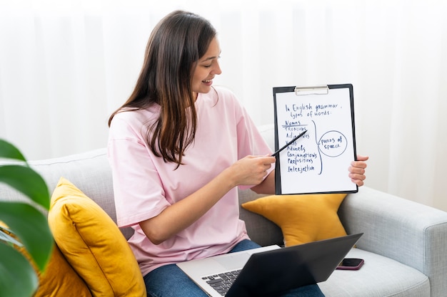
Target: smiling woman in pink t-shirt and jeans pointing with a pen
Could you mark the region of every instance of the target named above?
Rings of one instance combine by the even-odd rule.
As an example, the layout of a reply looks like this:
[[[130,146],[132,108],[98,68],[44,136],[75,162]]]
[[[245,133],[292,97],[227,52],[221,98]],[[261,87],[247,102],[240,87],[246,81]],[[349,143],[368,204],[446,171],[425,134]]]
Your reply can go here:
[[[148,296],[206,296],[175,263],[258,247],[238,219],[236,187],[273,194],[275,157],[233,93],[212,86],[220,53],[209,21],[169,14],[109,120],[117,221],[135,230]],[[358,185],[365,167],[350,167]],[[284,296],[323,294],[314,285]]]

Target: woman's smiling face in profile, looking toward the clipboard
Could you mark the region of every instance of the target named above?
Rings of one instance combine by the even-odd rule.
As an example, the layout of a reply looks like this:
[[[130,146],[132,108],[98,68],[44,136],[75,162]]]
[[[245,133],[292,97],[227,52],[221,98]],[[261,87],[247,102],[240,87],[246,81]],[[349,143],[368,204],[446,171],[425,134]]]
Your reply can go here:
[[[203,57],[199,58],[194,70],[192,90],[195,96],[197,96],[197,93],[208,93],[211,90],[214,76],[222,73],[219,66],[220,54],[219,41],[214,37],[209,44],[208,51]]]

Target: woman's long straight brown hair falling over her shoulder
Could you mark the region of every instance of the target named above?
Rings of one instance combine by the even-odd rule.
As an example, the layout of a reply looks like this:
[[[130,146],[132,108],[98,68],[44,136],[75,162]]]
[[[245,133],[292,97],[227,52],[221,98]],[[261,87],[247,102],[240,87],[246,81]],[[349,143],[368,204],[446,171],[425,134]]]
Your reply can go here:
[[[159,104],[159,118],[148,123],[146,142],[157,157],[181,165],[196,135],[192,75],[215,36],[214,27],[201,16],[187,11],[165,16],[149,37],[133,93],[112,113],[109,127],[116,113]]]

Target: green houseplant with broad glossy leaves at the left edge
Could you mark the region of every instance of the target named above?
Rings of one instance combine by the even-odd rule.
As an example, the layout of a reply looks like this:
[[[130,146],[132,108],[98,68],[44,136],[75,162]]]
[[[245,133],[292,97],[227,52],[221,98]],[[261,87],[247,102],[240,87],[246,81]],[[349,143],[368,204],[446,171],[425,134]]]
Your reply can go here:
[[[0,297],[27,297],[39,286],[36,269],[44,271],[53,247],[42,212],[49,209],[49,189],[44,179],[29,167],[24,155],[0,139],[2,159],[9,161],[0,162],[0,182],[27,198],[24,202],[6,202],[0,197],[0,221],[7,226],[0,226]]]

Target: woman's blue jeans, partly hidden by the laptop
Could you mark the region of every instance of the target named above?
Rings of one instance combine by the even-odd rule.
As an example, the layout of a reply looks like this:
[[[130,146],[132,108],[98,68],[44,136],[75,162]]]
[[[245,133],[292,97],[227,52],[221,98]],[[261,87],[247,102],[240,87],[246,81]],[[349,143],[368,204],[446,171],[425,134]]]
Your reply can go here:
[[[230,251],[243,251],[259,247],[253,241],[243,240]],[[161,266],[144,276],[148,297],[207,297],[199,286],[175,264]],[[317,285],[296,288],[281,297],[324,297]]]

